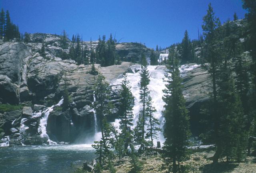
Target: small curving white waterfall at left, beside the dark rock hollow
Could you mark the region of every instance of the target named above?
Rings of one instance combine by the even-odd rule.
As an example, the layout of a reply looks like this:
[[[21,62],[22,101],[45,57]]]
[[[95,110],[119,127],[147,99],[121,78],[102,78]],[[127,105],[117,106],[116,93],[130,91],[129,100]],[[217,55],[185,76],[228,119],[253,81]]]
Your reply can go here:
[[[54,108],[55,106],[60,106],[60,105],[62,105],[63,100],[64,100],[64,99],[62,98],[62,99],[58,102],[58,104],[52,105],[51,107],[46,108],[46,110],[44,110],[44,111],[41,113],[41,114],[44,114],[44,117],[42,117],[42,118],[40,119],[40,124],[39,124],[39,127],[38,127],[38,132],[39,132],[39,133],[41,132],[41,134],[40,134],[41,138],[44,138],[44,137],[48,138],[47,142],[49,142],[50,145],[52,145],[52,144],[57,144],[57,143],[56,143],[56,142],[53,142],[52,140],[50,140],[48,134],[46,133],[46,126],[47,126],[48,116],[49,116],[50,112],[52,112],[52,110],[53,110],[53,108]],[[32,114],[32,117],[33,117],[33,116],[39,116],[39,115],[40,115],[40,114],[38,114],[38,113],[34,113],[34,114]]]

